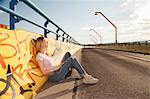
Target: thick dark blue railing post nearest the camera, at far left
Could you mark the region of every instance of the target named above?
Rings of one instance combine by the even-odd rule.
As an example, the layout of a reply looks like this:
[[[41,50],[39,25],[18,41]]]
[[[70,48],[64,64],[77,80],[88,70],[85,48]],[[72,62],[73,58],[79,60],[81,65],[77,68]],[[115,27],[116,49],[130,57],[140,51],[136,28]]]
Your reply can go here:
[[[11,0],[9,3],[9,8],[11,10],[15,10],[15,6],[18,4],[18,0]],[[10,30],[14,30],[15,29],[15,17],[13,14],[10,14]]]

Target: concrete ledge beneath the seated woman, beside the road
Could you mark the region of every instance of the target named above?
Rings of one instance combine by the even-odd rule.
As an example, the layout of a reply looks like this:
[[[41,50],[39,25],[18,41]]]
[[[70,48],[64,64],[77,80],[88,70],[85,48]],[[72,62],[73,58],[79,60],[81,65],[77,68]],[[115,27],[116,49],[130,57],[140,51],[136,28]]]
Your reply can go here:
[[[75,80],[58,83],[48,81],[36,99],[72,99]]]

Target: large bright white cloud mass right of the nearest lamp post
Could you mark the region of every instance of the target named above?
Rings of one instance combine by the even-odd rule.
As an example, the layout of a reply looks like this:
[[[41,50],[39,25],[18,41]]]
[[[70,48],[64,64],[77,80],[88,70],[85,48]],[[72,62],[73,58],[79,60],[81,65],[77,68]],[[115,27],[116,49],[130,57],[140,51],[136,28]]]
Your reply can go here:
[[[120,24],[120,37],[130,41],[150,39],[150,1],[126,0],[120,7],[129,15],[128,21]]]

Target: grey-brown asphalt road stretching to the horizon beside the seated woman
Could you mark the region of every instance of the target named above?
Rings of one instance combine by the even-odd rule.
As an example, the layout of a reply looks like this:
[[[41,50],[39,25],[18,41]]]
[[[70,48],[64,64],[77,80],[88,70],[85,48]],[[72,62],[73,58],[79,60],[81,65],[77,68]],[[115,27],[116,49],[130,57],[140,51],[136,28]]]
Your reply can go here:
[[[81,63],[99,82],[78,86],[78,99],[150,99],[149,61],[126,52],[83,49]]]

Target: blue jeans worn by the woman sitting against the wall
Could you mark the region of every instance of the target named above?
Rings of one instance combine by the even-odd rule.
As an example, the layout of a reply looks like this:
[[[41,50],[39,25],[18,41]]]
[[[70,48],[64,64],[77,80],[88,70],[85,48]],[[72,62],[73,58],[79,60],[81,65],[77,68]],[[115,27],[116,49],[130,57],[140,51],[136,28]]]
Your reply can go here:
[[[49,80],[60,81],[64,79],[72,68],[75,68],[81,77],[83,77],[83,75],[85,74],[82,65],[78,62],[77,59],[72,58],[69,52],[67,52],[64,55],[61,62],[63,63],[62,66],[60,67],[58,71],[55,71],[53,75],[48,77]]]

